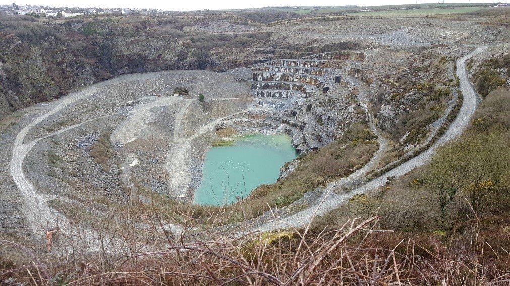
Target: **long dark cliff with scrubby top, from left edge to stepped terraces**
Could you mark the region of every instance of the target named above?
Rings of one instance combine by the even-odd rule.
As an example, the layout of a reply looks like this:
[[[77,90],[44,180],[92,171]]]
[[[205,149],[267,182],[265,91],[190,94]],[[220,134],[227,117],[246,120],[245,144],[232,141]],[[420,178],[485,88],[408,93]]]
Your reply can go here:
[[[230,47],[230,52],[235,52],[236,48],[254,46],[270,36],[267,33],[251,33],[246,37],[213,35],[206,42],[197,43],[189,33],[183,32],[183,26],[194,23],[183,21],[1,17],[0,118],[117,74],[224,70],[253,64],[222,63],[226,54],[222,47]],[[245,42],[240,44],[241,40]]]

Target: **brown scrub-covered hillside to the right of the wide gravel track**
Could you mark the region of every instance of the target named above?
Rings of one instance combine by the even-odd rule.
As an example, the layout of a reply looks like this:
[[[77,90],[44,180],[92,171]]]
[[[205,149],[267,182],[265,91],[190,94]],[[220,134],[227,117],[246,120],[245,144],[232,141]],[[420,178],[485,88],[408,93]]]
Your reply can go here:
[[[388,249],[402,241],[412,243],[414,258],[420,261],[420,269],[411,274],[420,282],[414,280],[413,285],[509,284],[508,100],[505,90],[491,93],[476,111],[471,130],[438,148],[437,158],[429,165],[393,180],[382,190],[354,196],[316,219],[312,231],[333,230],[348,217],[379,215],[378,227],[395,232],[378,233],[373,247]],[[491,120],[485,121],[483,128],[475,124],[489,116]],[[435,165],[449,161],[450,167],[435,171]],[[459,176],[461,173],[464,175]],[[452,178],[454,192],[443,214],[445,201],[435,188],[449,184]],[[400,244],[396,251],[406,253],[407,248]]]

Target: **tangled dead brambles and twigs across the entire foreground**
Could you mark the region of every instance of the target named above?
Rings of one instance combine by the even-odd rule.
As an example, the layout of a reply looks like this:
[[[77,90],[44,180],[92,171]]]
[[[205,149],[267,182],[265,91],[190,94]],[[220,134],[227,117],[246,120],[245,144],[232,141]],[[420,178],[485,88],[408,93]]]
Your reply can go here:
[[[475,250],[468,255],[471,261],[455,260],[441,246],[440,236],[414,240],[381,230],[379,216],[356,217],[322,230],[310,223],[304,230],[246,232],[253,225],[200,230],[200,225],[193,223],[193,214],[189,215],[181,225],[180,234],[170,231],[156,212],[145,216],[147,228],[143,232],[136,230],[135,223],[127,218],[115,221],[108,220],[108,215],[104,220],[88,217],[90,227],[98,234],[100,251],[81,248],[80,235],[58,238],[50,253],[43,244],[29,248],[0,240],[0,281],[3,285],[502,285],[510,282],[507,269],[486,266],[483,253]],[[105,235],[107,229],[115,238]],[[483,244],[483,238],[474,236],[473,239],[472,243]],[[498,259],[507,260],[501,256]]]

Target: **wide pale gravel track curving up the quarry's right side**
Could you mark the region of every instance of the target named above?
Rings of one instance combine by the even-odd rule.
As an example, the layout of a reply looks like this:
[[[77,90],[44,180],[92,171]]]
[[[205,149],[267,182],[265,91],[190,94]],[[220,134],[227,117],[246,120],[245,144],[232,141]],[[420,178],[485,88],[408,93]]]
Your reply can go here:
[[[445,144],[452,140],[453,138],[458,137],[462,134],[462,132],[469,125],[471,117],[478,105],[480,98],[478,94],[472,87],[471,82],[468,79],[466,72],[466,61],[472,56],[479,54],[486,50],[488,47],[477,47],[475,51],[464,56],[464,58],[456,61],[457,66],[457,76],[460,79],[461,83],[461,91],[463,94],[463,104],[461,110],[459,111],[457,118],[450,125],[445,134],[434,144],[432,147],[421,153],[420,155],[414,157],[413,159],[401,164],[400,166],[390,170],[388,173],[366,183],[365,185],[355,189],[354,191],[349,192],[348,194],[339,195],[333,198],[328,198],[328,196],[324,196],[322,202],[319,203],[318,206],[313,206],[303,211],[300,211],[296,214],[290,215],[285,218],[275,219],[273,222],[262,223],[253,228],[253,231],[270,231],[276,228],[286,228],[286,227],[301,227],[309,224],[313,218],[317,215],[324,215],[334,209],[338,208],[342,203],[348,201],[353,195],[365,193],[369,190],[373,190],[376,188],[380,188],[386,184],[387,178],[390,176],[399,177],[412,169],[424,165],[433,154],[434,149],[438,146]]]

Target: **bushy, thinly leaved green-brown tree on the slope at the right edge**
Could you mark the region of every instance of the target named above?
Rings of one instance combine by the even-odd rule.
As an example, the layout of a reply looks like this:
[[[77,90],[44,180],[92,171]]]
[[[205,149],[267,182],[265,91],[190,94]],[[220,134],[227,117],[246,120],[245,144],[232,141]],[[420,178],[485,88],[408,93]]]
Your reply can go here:
[[[509,144],[508,134],[469,134],[465,140],[437,150],[424,181],[437,196],[442,218],[458,190],[467,193],[469,203],[478,211],[480,199],[496,191],[510,171]]]

